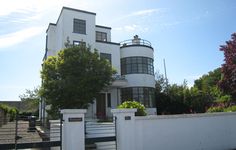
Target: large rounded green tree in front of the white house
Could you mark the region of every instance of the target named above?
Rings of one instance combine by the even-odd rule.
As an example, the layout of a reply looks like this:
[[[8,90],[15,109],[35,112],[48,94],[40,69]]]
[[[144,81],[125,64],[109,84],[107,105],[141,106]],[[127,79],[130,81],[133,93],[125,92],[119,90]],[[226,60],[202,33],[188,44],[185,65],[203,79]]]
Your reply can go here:
[[[100,59],[96,50],[69,46],[44,61],[40,93],[51,105],[52,114],[59,109],[87,108],[110,85],[113,73],[110,63]]]

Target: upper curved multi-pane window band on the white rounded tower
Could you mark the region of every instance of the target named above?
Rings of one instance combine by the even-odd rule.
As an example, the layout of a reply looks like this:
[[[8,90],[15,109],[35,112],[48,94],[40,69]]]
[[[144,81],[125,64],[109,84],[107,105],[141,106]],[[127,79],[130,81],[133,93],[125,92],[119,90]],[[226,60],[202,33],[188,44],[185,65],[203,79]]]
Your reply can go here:
[[[122,58],[121,75],[134,73],[154,75],[153,59],[148,57]]]

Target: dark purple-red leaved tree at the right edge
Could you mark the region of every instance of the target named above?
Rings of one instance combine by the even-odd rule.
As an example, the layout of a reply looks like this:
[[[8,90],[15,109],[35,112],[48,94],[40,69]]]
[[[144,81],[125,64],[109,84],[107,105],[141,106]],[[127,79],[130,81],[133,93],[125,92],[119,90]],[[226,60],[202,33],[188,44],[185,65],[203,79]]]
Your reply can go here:
[[[222,64],[222,79],[219,83],[220,88],[236,98],[236,33],[231,35],[231,40],[226,41],[226,45],[220,47],[224,52],[224,61]]]

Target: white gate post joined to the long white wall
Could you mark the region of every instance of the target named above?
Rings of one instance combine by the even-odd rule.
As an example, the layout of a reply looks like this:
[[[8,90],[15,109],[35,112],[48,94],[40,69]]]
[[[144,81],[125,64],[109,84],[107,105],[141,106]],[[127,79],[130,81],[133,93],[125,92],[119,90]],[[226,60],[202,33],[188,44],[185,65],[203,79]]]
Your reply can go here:
[[[135,112],[137,109],[112,109],[116,117],[116,142],[118,150],[135,150]]]

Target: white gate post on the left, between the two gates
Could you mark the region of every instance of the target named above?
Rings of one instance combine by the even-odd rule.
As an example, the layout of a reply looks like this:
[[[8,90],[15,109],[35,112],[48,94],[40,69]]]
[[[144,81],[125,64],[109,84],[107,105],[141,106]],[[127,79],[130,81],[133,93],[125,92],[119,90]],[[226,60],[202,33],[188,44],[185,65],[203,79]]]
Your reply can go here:
[[[84,114],[86,109],[63,109],[62,149],[84,150]]]

